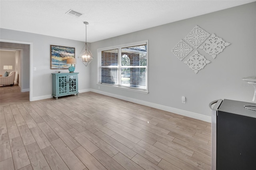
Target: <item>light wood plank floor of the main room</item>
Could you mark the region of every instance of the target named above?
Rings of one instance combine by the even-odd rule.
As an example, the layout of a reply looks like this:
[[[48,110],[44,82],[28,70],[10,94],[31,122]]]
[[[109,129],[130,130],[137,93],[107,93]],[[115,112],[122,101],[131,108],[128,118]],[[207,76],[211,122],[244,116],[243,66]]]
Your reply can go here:
[[[0,106],[1,170],[210,170],[211,125],[87,92]]]

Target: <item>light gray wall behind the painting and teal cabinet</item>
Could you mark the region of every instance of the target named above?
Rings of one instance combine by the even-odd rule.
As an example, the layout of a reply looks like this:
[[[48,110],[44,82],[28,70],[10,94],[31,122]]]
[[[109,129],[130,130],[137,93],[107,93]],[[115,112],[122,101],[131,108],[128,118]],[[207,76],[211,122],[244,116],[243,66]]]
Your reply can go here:
[[[24,56],[22,61],[23,75],[22,79],[25,79],[29,88],[29,68],[36,67],[36,71],[32,72],[32,99],[44,99],[49,98],[52,94],[52,74],[57,69],[50,69],[50,45],[61,45],[68,47],[75,47],[75,56],[78,57],[80,51],[84,46],[84,42],[68,40],[64,38],[56,38],[51,36],[44,36],[40,34],[32,34],[28,32],[20,32],[14,30],[0,29],[0,39],[14,40],[20,42],[32,43],[32,63],[29,64],[29,57]],[[90,43],[88,44],[90,45]],[[2,43],[1,43],[2,47]],[[5,47],[5,46],[3,46]],[[8,48],[8,47],[6,47]],[[11,48],[11,47],[9,47]],[[14,48],[14,47],[13,47]],[[17,47],[18,48],[18,47]],[[22,48],[20,48],[22,49]],[[23,50],[24,51],[24,50]],[[29,53],[28,53],[29,56]],[[26,70],[26,73],[24,71]],[[62,69],[62,72],[68,72],[68,69]],[[86,90],[90,88],[90,69],[85,67],[82,62],[77,59],[75,72],[80,72],[78,75],[78,89]],[[23,81],[24,81],[23,79]],[[25,86],[25,85],[24,85]],[[31,89],[31,88],[30,88]]]

